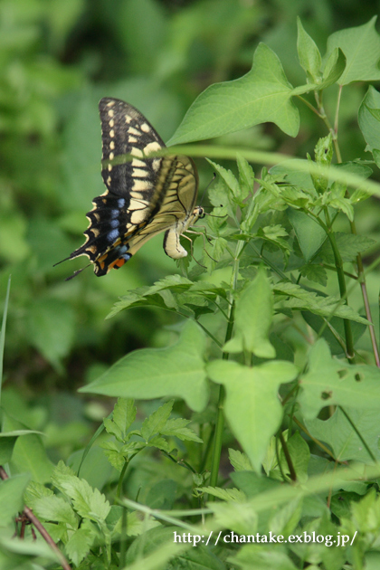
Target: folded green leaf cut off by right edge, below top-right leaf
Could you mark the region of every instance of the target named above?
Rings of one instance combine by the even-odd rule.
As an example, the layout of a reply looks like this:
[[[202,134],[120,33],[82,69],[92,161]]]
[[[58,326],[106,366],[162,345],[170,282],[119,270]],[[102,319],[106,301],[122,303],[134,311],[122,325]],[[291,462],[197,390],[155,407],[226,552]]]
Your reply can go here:
[[[380,149],[380,118],[374,111],[380,109],[380,93],[370,85],[359,107],[358,123],[366,140],[366,150],[373,153],[376,165],[380,167],[378,151]],[[375,153],[375,151],[377,151]]]

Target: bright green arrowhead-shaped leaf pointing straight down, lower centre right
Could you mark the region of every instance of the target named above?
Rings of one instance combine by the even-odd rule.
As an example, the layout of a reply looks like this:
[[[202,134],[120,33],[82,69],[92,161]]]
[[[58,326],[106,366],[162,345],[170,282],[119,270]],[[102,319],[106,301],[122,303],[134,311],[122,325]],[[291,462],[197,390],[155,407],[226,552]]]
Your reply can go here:
[[[207,366],[207,372],[214,382],[224,385],[228,423],[253,469],[260,471],[271,435],[279,428],[282,418],[278,388],[297,375],[296,366],[271,361],[247,367],[237,362],[214,360]]]

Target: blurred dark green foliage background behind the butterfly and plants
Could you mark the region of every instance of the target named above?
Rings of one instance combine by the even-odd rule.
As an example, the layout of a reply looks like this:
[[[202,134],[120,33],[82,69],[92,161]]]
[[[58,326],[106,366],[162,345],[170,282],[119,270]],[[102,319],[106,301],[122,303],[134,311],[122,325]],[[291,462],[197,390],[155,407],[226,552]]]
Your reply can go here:
[[[330,33],[365,24],[379,7],[356,0],[0,0],[0,302],[12,274],[4,395],[17,415],[24,394],[49,398],[43,416],[59,421],[65,409],[72,418],[80,404],[64,393],[130,350],[166,345],[167,326],[176,324],[171,314],[143,309],[105,320],[127,290],[178,271],[162,236],[105,278],[88,269],[65,281],[85,258],[52,267],[83,242],[85,214],[103,192],[100,98],[137,106],[167,140],[202,90],[250,70],[261,41],[280,56],[290,82],[303,83],[297,15],[323,53]],[[356,125],[365,91],[350,87],[343,99],[346,160],[366,157]],[[217,142],[304,157],[326,132],[300,110],[295,139],[264,125]],[[205,161],[197,165],[202,192],[213,173]],[[375,200],[363,205],[359,231],[377,235],[378,214]]]

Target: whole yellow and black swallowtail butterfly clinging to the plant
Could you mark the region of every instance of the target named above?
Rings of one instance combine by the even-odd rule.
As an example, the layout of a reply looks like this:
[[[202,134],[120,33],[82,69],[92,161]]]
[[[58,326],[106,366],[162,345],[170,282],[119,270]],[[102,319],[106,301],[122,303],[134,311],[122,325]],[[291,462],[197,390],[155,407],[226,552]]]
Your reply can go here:
[[[180,236],[204,217],[204,209],[195,205],[198,174],[193,160],[182,155],[149,158],[165,144],[132,105],[106,97],[99,109],[101,176],[107,189],[94,198],[94,207],[86,214],[90,220],[86,242],[68,259],[86,255],[100,277],[119,269],[161,232],[165,232],[166,254],[185,257]],[[124,159],[126,155],[132,160]]]

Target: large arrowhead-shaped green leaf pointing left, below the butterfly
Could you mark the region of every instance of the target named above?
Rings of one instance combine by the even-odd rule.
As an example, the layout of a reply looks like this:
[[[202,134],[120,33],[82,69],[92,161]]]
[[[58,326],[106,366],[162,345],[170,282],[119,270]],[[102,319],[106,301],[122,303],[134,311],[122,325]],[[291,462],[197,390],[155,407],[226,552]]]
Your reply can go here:
[[[173,347],[135,350],[81,392],[142,400],[178,396],[199,412],[208,398],[203,353],[204,334],[188,321]]]

